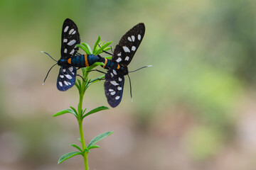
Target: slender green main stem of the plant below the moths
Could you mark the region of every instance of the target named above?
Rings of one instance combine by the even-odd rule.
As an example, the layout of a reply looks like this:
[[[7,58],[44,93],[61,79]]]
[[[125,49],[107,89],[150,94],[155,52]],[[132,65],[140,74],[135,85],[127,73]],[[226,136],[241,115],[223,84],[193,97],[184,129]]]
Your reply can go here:
[[[82,82],[83,84],[84,82]],[[83,129],[82,129],[82,99],[84,94],[81,93],[79,94],[80,98],[79,98],[79,103],[78,103],[78,126],[79,126],[79,132],[80,132],[80,139],[81,139],[81,143],[82,143],[82,150],[84,151],[86,148],[85,145],[85,137],[84,137],[84,133],[83,133]],[[85,163],[85,170],[89,170],[89,165],[88,165],[88,159],[87,159],[87,152],[84,152],[82,157],[84,159],[84,163]]]

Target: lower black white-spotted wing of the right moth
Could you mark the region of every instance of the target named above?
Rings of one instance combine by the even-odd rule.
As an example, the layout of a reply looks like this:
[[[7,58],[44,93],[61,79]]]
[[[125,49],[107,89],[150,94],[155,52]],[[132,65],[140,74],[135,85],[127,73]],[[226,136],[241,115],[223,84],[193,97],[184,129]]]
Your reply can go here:
[[[119,105],[122,100],[122,93],[124,89],[124,76],[117,74],[114,69],[110,69],[105,74],[105,95],[107,102],[112,108]]]

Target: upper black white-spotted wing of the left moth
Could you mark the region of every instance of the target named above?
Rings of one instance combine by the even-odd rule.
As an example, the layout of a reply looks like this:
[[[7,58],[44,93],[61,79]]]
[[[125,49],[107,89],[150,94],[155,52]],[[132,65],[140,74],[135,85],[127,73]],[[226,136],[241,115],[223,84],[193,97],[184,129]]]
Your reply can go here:
[[[65,19],[63,23],[63,30],[61,36],[61,58],[68,59],[78,52],[78,47],[75,45],[80,44],[80,35],[78,33],[78,26],[70,20]]]

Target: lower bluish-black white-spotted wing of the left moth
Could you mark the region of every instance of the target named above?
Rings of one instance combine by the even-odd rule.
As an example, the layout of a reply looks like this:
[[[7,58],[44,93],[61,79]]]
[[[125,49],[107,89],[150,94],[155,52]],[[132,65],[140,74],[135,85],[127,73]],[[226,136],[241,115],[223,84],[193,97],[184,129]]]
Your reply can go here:
[[[57,79],[57,88],[60,91],[66,91],[75,84],[75,67],[60,67]]]

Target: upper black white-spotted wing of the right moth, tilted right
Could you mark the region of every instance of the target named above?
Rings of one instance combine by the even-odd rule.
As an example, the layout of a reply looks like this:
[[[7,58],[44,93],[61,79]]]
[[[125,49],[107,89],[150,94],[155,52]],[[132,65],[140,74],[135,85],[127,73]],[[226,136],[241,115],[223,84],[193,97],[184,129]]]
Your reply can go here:
[[[127,66],[137,51],[145,33],[144,23],[138,23],[127,33],[125,33],[119,44],[114,48],[114,55],[112,61]]]

